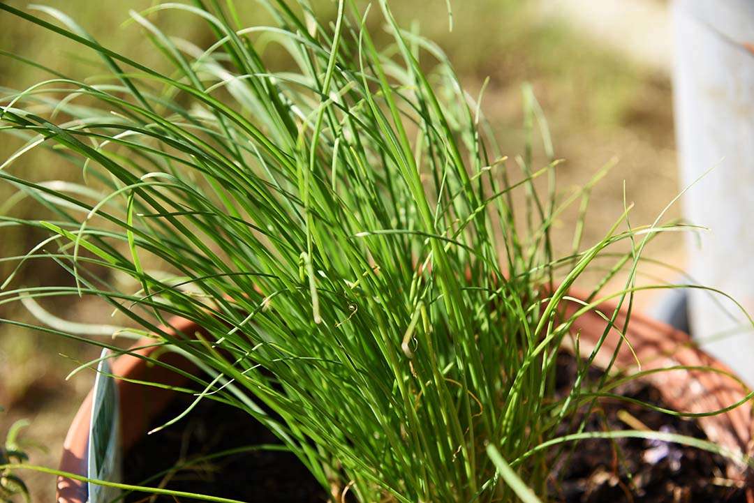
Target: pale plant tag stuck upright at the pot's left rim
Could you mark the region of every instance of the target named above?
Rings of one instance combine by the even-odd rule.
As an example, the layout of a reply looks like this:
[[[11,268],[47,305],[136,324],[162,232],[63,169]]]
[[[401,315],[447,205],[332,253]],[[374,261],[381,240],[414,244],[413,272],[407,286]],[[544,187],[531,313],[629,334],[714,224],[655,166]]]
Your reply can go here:
[[[89,456],[87,477],[121,481],[120,402],[118,387],[112,378],[109,349],[103,349],[92,392],[92,416],[89,423]],[[88,483],[89,503],[112,501],[120,495],[114,487]]]

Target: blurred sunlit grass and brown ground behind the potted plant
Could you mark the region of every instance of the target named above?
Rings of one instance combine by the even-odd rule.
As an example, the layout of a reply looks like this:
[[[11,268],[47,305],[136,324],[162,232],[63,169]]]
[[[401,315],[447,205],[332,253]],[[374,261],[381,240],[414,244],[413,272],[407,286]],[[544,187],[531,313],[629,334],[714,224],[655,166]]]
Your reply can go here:
[[[26,7],[26,2],[8,3]],[[139,11],[152,3],[44,2],[74,17],[106,47],[159,67],[161,55],[152,50],[139,27],[123,24],[130,9]],[[264,13],[253,7],[256,3],[247,5],[244,19],[263,22]],[[472,96],[477,96],[489,77],[482,108],[510,157],[523,151],[521,87],[529,82],[549,122],[556,156],[566,160],[557,172],[559,190],[586,183],[605,163],[618,159],[593,191],[585,243],[603,236],[623,212],[624,181],[627,200],[636,203],[632,223],[651,223],[678,193],[670,87],[672,37],[666,1],[452,0],[452,32],[443,0],[401,0],[391,5],[400,23],[405,26],[416,20],[421,33],[449,53]],[[379,16],[374,19],[379,22]],[[205,26],[194,17],[172,14],[158,22],[171,35],[205,45]],[[60,36],[5,13],[0,14],[0,26],[3,51],[76,78],[100,72],[93,66],[92,54]],[[8,88],[23,89],[45,78],[49,78],[45,72],[0,54],[3,94]],[[18,146],[0,139],[0,160]],[[45,180],[80,175],[41,151],[24,157],[12,169]],[[0,186],[0,206],[11,192],[12,187]],[[30,217],[31,211],[30,205],[13,210],[22,218]],[[671,218],[678,215],[677,208],[670,213]],[[573,230],[567,218],[556,227],[562,250],[569,249]],[[0,256],[23,254],[39,237],[28,229],[0,227]],[[661,245],[651,247],[650,255],[682,265],[682,237],[663,239]],[[9,264],[0,263],[0,278],[10,272]],[[17,285],[66,280],[51,265],[34,264],[20,274]],[[644,300],[642,306],[648,303],[651,300]],[[45,307],[74,321],[107,323],[110,316],[110,309],[96,302]],[[22,306],[0,306],[0,318],[28,320],[29,315]],[[35,464],[57,466],[63,437],[93,382],[91,371],[68,381],[66,374],[96,353],[94,348],[60,337],[0,325],[0,404],[6,409],[0,413],[0,432],[7,431],[15,419],[31,419],[26,436],[45,448],[32,450]],[[54,501],[52,477],[30,474],[27,480],[34,501]]]

